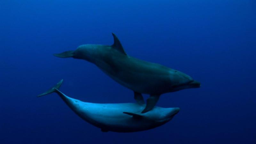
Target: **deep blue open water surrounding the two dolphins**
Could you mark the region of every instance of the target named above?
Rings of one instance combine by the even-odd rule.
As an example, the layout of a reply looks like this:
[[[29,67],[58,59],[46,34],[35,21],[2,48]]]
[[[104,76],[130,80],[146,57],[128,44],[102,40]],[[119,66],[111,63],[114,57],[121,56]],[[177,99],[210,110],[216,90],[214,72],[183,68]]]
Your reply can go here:
[[[1,144],[255,144],[254,0],[1,0]],[[56,95],[36,98],[60,79],[61,91],[95,103],[134,102],[133,92],[84,60],[53,53],[112,44],[116,33],[136,58],[201,82],[161,96],[181,110],[144,132],[101,132]],[[147,96],[145,95],[145,98]]]

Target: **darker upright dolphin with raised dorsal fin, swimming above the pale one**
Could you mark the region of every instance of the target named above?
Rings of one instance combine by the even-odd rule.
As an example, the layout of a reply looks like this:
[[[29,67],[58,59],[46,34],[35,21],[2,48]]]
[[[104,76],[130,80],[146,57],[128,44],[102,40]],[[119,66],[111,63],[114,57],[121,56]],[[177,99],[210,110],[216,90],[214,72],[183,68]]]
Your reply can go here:
[[[154,108],[163,93],[201,86],[199,82],[180,71],[128,56],[116,35],[112,35],[113,45],[85,44],[80,45],[75,51],[62,52],[54,56],[87,60],[119,84],[134,92],[150,94],[142,113]]]

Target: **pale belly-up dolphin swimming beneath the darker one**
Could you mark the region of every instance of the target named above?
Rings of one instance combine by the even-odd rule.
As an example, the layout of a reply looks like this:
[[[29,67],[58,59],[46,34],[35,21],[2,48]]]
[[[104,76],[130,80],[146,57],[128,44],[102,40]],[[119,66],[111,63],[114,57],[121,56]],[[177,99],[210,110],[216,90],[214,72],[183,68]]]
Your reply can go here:
[[[153,129],[170,121],[180,110],[180,108],[154,107],[148,113],[140,114],[145,107],[143,100],[139,100],[138,103],[117,104],[82,102],[72,99],[58,90],[62,81],[38,97],[56,92],[78,116],[99,127],[102,132],[138,132]],[[135,97],[138,96],[135,95]],[[139,97],[142,96],[139,95]]]

